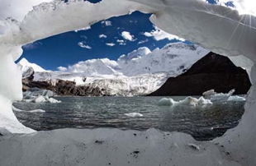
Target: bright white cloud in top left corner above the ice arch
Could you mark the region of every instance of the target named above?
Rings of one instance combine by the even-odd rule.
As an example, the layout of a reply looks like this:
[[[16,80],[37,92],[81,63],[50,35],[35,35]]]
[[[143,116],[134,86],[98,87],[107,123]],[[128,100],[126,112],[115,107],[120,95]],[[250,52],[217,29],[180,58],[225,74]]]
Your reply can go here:
[[[22,21],[34,6],[41,2],[51,2],[53,0],[1,0],[0,20],[12,17],[17,21]]]

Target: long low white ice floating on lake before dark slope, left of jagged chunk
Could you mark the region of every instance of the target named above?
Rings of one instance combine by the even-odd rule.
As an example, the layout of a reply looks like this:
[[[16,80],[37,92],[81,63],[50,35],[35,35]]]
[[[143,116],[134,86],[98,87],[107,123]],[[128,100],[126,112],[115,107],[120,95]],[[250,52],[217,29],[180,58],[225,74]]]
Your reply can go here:
[[[197,99],[188,96],[186,99],[180,101],[174,101],[172,98],[163,98],[159,100],[159,105],[188,105],[188,106],[202,106],[207,104],[212,104],[210,99],[204,99],[203,97]]]

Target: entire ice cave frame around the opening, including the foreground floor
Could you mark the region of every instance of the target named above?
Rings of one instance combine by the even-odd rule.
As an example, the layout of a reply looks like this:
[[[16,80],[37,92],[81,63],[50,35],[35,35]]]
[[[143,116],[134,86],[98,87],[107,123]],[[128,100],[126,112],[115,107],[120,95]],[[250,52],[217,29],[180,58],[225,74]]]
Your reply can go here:
[[[118,4],[118,7],[113,7]],[[21,99],[21,46],[78,30],[111,16],[152,13],[162,30],[188,39],[244,67],[252,87],[239,126],[214,141],[178,132],[116,129],[33,131],[18,122],[12,102]],[[256,159],[256,17],[200,0],[73,0],[44,2],[25,18],[0,21],[0,165],[225,165],[254,166]],[[134,135],[136,133],[136,136]],[[96,141],[97,140],[97,141]],[[101,146],[102,142],[104,145]]]

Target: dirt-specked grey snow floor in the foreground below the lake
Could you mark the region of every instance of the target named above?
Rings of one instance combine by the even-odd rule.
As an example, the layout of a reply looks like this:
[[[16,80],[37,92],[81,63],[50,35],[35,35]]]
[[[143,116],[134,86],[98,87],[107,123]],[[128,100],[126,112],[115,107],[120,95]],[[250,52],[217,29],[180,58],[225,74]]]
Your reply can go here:
[[[0,136],[1,164],[240,166],[211,142],[178,132],[61,129]],[[26,153],[24,153],[26,152]],[[12,154],[12,159],[9,155]]]

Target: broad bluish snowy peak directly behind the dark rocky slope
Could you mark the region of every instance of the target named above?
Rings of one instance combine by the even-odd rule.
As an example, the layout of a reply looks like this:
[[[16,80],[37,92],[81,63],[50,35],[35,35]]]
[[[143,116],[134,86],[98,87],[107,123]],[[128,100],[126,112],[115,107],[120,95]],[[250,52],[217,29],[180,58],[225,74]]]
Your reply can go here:
[[[209,51],[197,45],[174,43],[167,44],[161,49],[156,48],[153,52],[149,52],[147,48],[139,48],[122,55],[117,62],[125,76],[155,72],[167,72],[172,76],[178,76],[206,53]]]

